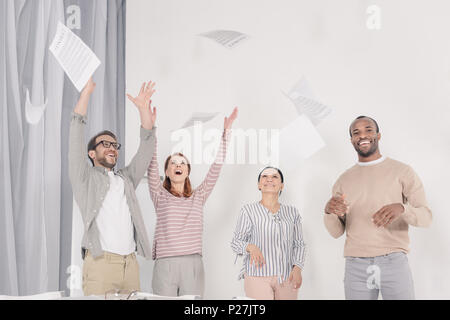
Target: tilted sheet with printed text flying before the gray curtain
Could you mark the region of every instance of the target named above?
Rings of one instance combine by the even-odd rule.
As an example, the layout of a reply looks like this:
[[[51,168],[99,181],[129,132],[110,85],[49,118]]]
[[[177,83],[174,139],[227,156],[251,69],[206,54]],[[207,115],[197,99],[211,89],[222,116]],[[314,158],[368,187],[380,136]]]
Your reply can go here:
[[[61,22],[49,49],[78,91],[101,64],[94,52]]]

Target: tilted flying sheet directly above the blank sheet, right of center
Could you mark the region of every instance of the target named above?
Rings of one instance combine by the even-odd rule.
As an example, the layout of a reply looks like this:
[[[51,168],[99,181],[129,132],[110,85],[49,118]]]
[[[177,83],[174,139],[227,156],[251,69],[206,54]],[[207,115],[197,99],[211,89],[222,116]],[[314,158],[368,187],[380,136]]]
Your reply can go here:
[[[314,125],[318,125],[332,111],[330,107],[316,100],[304,77],[286,95],[295,105],[298,114],[306,114]]]

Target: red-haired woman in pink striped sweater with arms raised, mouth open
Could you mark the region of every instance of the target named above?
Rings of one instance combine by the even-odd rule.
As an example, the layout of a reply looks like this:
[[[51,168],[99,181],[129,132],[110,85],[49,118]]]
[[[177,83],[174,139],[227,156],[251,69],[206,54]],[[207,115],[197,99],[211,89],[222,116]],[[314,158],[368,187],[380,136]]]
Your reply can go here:
[[[202,261],[203,206],[211,194],[225,161],[227,144],[235,108],[224,119],[224,132],[215,161],[206,178],[195,189],[189,180],[191,165],[176,153],[164,164],[165,179],[158,172],[157,144],[148,168],[150,197],[156,211],[153,239],[153,293],[162,296],[203,296],[204,270]]]

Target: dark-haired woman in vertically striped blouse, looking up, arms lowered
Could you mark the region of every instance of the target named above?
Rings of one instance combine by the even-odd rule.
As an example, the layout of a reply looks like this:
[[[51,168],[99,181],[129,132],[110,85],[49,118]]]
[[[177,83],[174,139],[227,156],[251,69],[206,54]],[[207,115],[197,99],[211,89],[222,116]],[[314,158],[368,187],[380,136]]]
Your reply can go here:
[[[280,169],[266,167],[258,176],[261,201],[244,205],[231,248],[244,256],[239,279],[247,297],[295,300],[302,284],[305,243],[298,210],[279,202],[284,187]]]

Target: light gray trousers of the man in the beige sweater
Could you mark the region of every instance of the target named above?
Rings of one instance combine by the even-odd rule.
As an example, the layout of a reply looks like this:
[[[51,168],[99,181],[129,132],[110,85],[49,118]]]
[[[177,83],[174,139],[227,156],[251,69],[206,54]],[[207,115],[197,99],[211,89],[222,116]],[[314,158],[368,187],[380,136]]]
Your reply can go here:
[[[403,252],[379,257],[346,257],[345,298],[347,300],[414,300],[414,283],[408,258]]]

